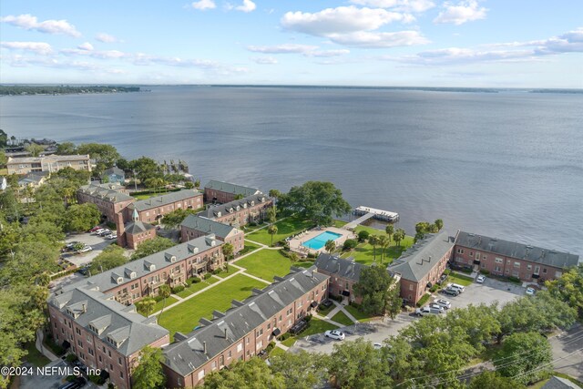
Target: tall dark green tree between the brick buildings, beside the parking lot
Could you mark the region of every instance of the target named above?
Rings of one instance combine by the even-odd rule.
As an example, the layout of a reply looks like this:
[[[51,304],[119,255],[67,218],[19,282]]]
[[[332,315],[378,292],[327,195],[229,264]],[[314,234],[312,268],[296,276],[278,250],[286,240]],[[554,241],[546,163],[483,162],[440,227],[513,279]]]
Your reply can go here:
[[[384,314],[394,312],[394,306],[399,309],[403,302],[398,292],[394,278],[383,266],[365,267],[361,271],[359,282],[353,285],[353,292],[357,296],[362,296],[360,310],[367,314]]]

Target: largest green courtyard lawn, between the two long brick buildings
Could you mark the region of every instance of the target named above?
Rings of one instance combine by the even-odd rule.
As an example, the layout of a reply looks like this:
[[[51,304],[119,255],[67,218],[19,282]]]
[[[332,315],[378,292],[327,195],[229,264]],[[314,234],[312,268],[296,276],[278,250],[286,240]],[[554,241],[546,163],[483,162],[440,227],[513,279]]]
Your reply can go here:
[[[230,308],[231,300],[243,301],[251,296],[253,288],[261,289],[265,286],[265,283],[250,277],[236,275],[164,312],[159,319],[159,324],[168,329],[172,337],[177,331],[189,333],[199,325],[200,318],[211,319],[212,311],[225,312]]]

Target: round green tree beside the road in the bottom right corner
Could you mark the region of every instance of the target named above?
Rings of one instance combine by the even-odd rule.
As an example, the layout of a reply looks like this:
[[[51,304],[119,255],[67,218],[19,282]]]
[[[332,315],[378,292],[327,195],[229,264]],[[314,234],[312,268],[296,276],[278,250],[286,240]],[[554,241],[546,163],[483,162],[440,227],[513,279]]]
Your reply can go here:
[[[496,353],[496,371],[521,384],[535,383],[550,372],[553,353],[540,333],[513,333]]]

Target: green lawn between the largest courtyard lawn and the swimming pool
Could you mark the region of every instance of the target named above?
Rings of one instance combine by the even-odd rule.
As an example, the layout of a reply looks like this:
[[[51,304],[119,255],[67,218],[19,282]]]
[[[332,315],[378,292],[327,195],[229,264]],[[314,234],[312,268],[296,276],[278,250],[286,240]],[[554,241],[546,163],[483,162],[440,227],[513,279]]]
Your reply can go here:
[[[269,282],[273,281],[273,276],[283,277],[288,274],[292,267],[292,261],[281,254],[280,250],[266,249],[236,261],[235,264],[247,269],[245,272]]]

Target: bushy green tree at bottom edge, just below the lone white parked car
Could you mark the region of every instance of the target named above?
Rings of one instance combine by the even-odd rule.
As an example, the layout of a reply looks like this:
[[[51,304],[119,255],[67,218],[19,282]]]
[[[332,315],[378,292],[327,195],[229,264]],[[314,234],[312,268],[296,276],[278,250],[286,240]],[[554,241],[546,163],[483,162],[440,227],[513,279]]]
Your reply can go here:
[[[337,387],[368,389],[392,386],[389,369],[384,363],[382,353],[363,338],[334,344],[326,364],[332,382]]]

